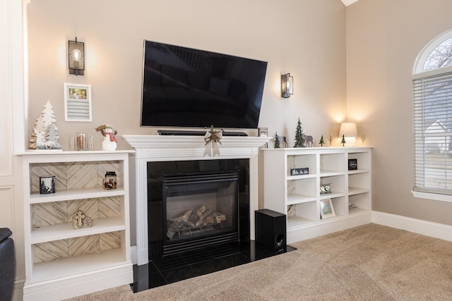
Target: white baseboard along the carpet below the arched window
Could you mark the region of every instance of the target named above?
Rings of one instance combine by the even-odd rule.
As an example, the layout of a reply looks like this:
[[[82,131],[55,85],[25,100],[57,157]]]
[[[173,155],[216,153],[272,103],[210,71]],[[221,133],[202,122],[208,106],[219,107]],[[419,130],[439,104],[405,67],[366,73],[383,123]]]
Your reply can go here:
[[[379,211],[372,211],[372,223],[452,241],[452,226],[443,223],[433,223]]]

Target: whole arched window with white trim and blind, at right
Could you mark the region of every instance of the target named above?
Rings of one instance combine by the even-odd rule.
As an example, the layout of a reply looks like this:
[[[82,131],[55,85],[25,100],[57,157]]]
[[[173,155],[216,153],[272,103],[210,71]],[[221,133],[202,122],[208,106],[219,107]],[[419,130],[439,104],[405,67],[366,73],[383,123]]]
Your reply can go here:
[[[452,202],[452,30],[422,49],[412,80],[413,195]]]

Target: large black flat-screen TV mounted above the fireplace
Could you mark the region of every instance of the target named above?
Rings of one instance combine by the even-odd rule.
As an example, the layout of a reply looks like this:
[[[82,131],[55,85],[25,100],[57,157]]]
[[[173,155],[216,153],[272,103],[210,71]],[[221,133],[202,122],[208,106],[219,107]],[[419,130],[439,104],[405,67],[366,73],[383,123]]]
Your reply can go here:
[[[145,41],[141,126],[257,128],[267,63]]]

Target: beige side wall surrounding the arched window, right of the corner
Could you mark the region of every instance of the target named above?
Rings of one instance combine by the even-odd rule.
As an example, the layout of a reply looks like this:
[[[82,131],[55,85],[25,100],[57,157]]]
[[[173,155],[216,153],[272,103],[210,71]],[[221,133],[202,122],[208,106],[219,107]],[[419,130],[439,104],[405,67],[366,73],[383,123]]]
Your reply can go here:
[[[347,7],[347,115],[374,145],[373,209],[452,225],[452,203],[412,197],[412,68],[452,28],[450,0]]]

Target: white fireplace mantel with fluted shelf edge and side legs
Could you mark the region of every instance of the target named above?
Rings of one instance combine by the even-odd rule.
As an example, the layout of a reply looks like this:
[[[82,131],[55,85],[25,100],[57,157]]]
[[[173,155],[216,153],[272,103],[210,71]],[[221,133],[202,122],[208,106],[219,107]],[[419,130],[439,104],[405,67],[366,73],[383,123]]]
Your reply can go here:
[[[258,209],[258,151],[271,137],[225,136],[220,155],[204,156],[203,136],[123,135],[136,150],[136,260],[147,264],[148,257],[148,182],[147,162],[213,159],[249,159],[250,238],[254,240],[254,211]]]

